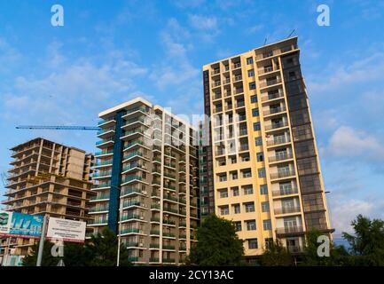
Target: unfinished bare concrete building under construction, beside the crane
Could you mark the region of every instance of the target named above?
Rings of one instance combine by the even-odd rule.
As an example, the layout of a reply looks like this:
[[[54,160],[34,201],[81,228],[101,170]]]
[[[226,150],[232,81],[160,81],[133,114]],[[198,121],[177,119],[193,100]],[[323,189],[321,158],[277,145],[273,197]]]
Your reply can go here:
[[[90,173],[93,155],[44,138],[35,138],[12,149],[12,166],[2,203],[5,209],[87,221],[90,197]],[[17,264],[26,256],[34,239],[2,239],[4,254]],[[8,259],[12,259],[9,257]]]

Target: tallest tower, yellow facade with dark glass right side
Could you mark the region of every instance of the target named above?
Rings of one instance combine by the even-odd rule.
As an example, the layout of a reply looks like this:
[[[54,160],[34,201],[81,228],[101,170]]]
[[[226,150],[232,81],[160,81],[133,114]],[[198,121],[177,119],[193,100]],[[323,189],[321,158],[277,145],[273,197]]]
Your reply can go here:
[[[201,200],[212,193],[206,202],[235,222],[249,259],[272,240],[296,253],[311,228],[333,232],[299,56],[292,37],[203,67]]]

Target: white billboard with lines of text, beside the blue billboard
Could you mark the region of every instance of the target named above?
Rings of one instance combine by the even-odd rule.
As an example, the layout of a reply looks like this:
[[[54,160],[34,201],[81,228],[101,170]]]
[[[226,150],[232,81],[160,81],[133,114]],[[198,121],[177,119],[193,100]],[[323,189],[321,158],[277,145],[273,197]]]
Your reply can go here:
[[[84,242],[85,222],[50,217],[47,240]]]

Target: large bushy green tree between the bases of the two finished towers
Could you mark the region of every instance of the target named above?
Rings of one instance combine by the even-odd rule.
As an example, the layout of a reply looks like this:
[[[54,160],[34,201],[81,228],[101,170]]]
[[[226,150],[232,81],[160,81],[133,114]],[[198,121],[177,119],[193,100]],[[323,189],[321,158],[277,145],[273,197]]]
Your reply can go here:
[[[196,232],[197,243],[192,246],[186,264],[229,266],[244,264],[243,241],[229,220],[212,215]]]

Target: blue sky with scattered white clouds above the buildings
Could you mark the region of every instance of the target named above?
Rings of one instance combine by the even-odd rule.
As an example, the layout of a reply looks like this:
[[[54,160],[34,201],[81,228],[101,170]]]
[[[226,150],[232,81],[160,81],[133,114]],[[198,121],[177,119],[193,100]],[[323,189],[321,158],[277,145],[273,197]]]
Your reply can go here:
[[[51,26],[51,5],[65,25]],[[328,4],[331,26],[317,26]],[[137,95],[201,114],[201,67],[288,36],[302,49],[333,226],[384,218],[384,2],[1,1],[0,171],[9,148],[35,136],[95,151],[98,112]],[[0,189],[0,193],[4,188]]]

